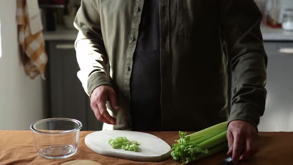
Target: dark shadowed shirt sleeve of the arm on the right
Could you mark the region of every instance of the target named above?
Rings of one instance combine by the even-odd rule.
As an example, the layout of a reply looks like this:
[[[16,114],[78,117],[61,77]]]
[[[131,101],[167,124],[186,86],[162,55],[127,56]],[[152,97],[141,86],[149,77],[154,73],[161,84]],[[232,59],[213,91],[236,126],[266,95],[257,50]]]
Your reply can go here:
[[[264,114],[267,55],[260,31],[262,14],[254,0],[220,0],[220,30],[233,71],[228,122],[244,120],[257,128]]]

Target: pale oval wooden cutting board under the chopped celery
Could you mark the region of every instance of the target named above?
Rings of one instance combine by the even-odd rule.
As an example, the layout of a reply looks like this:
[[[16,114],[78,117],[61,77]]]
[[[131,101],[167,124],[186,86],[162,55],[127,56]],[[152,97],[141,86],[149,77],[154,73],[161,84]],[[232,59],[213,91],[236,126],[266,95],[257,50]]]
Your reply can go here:
[[[119,136],[127,137],[130,141],[137,141],[140,144],[139,151],[113,149],[108,144],[108,140]],[[135,131],[97,131],[88,134],[84,142],[88,148],[100,155],[141,162],[160,162],[167,159],[171,152],[171,147],[162,139],[151,134]]]

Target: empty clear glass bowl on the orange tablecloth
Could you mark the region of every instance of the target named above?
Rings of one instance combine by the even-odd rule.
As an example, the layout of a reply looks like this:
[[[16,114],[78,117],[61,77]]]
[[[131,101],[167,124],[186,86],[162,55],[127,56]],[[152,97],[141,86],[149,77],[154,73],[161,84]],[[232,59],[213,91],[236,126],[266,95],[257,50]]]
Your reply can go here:
[[[61,159],[77,152],[80,121],[69,118],[49,118],[30,125],[38,154],[47,159]]]

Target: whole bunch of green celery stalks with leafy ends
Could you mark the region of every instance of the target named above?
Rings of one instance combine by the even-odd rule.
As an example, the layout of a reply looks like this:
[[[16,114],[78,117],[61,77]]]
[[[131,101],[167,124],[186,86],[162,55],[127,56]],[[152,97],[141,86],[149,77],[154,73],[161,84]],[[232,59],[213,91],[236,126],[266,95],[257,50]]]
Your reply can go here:
[[[227,149],[227,122],[223,122],[199,132],[186,135],[179,131],[180,139],[172,145],[171,156],[182,165],[208,157]]]

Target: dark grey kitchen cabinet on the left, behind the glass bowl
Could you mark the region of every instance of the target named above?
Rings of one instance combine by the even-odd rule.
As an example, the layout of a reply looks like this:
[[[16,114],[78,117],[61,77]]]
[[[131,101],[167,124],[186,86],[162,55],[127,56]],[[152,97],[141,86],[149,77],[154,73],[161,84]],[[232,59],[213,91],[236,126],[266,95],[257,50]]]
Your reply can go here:
[[[46,41],[46,49],[49,116],[79,120],[83,125],[81,130],[101,130],[102,123],[96,120],[89,98],[76,76],[79,67],[74,41]]]

